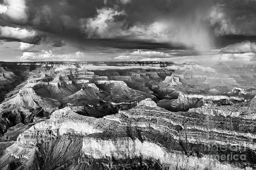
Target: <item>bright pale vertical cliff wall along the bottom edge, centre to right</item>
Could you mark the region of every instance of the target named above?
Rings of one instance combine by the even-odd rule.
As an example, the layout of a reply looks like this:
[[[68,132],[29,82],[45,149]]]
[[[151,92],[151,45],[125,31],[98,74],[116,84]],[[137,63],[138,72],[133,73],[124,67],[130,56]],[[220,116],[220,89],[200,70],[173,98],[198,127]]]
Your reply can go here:
[[[147,166],[146,160],[157,160],[164,164],[162,169],[240,169],[231,165],[223,165],[214,161],[209,157],[197,158],[195,156],[184,156],[181,152],[168,153],[160,146],[138,139],[119,138],[111,140],[92,139],[85,137],[82,143],[81,158],[79,163],[87,163],[86,158],[107,160],[105,166],[109,168],[121,168],[120,164],[115,163],[115,160],[135,160],[133,163],[137,166]],[[138,159],[139,158],[139,159]],[[140,162],[140,161],[141,162]],[[126,165],[126,168],[131,168],[131,165]]]

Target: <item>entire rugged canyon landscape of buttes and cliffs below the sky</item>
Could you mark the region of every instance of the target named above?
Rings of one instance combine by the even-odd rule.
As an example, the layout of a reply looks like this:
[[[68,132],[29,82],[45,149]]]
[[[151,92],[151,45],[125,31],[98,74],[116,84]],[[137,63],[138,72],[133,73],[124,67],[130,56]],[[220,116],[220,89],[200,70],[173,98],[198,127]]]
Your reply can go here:
[[[0,62],[0,169],[256,169],[255,95],[256,65]]]

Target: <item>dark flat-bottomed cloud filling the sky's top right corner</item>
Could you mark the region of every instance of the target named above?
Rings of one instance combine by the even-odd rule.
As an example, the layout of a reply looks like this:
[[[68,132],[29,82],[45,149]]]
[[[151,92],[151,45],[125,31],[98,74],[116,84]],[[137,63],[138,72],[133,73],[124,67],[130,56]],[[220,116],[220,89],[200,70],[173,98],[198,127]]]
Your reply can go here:
[[[255,0],[219,0],[209,20],[216,35],[256,35]]]

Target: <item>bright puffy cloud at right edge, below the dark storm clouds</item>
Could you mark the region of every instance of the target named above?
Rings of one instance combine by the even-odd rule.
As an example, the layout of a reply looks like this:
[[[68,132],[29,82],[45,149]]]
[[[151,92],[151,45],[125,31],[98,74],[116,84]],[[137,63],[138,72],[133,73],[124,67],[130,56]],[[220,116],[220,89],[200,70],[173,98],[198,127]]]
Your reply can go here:
[[[222,48],[220,52],[225,53],[248,53],[248,52],[256,52],[256,44],[255,42],[250,42],[248,40],[238,42],[235,44],[230,44],[225,48]]]

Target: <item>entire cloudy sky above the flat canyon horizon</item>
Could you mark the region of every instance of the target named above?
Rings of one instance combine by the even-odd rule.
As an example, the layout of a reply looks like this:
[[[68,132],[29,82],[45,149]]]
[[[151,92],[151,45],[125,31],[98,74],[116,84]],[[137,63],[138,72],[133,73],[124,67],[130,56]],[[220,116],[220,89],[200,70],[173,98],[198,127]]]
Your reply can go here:
[[[256,64],[256,0],[0,0],[0,61]]]

